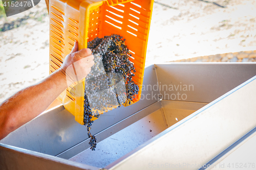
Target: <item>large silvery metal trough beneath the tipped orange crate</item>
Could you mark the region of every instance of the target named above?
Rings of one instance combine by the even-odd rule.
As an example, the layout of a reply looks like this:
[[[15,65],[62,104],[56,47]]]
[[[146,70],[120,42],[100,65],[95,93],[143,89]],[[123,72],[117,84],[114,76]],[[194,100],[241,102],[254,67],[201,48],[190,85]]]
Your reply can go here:
[[[147,66],[141,100],[93,123],[96,151],[60,105],[0,141],[0,169],[204,169],[255,135],[255,75],[254,63]]]

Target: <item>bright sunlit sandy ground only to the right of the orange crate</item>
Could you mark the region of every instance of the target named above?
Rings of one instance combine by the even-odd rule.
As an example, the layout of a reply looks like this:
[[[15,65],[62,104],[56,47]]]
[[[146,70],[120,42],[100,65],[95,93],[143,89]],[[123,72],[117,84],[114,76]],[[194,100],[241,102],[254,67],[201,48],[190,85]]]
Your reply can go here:
[[[256,50],[256,1],[157,2],[167,6],[154,4],[146,64]]]

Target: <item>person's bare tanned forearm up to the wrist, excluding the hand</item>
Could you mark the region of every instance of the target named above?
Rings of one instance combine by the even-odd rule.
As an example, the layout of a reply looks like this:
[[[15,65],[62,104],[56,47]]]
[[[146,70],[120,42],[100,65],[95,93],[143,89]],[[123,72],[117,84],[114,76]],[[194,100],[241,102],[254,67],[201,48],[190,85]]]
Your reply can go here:
[[[45,111],[66,88],[65,73],[57,70],[7,99],[0,105],[0,140]]]

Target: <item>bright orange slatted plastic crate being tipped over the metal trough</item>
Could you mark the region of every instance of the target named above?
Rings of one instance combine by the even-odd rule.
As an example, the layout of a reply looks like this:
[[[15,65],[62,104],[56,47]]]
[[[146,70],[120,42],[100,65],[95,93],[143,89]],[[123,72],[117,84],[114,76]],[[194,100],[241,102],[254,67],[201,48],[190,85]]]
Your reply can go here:
[[[50,74],[61,66],[75,41],[78,41],[80,50],[86,48],[87,42],[96,37],[119,34],[126,39],[125,45],[132,54],[129,60],[136,68],[133,80],[140,90],[132,104],[138,102],[153,3],[153,0],[51,0]],[[75,120],[83,125],[84,80],[68,87],[58,96],[58,100],[75,116]],[[124,106],[128,106],[127,102]],[[94,119],[96,118],[93,117],[92,120]]]

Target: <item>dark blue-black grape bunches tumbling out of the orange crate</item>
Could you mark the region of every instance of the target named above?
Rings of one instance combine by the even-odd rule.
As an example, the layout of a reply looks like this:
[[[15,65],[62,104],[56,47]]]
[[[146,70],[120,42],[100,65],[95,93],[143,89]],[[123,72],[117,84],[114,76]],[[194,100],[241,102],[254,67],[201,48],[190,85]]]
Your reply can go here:
[[[83,122],[91,138],[90,149],[95,151],[96,138],[90,132],[93,123],[91,119],[98,118],[112,107],[131,104],[139,87],[133,81],[136,70],[129,61],[132,55],[123,37],[116,34],[97,37],[88,42],[88,48],[92,50],[95,65],[86,77],[84,86]]]

